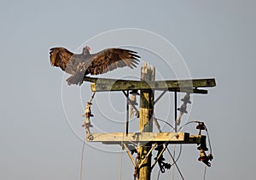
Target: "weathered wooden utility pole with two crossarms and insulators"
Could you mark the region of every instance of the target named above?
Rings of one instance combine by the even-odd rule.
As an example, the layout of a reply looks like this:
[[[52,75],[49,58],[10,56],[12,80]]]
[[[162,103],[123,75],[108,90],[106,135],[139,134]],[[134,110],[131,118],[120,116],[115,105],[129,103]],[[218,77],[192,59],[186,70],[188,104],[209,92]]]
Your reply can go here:
[[[152,151],[156,146],[161,144],[200,144],[201,151],[203,147],[207,147],[206,136],[201,135],[201,132],[196,135],[190,135],[189,132],[153,132],[154,119],[154,105],[162,97],[164,93],[197,93],[207,94],[207,89],[201,87],[215,87],[216,82],[214,78],[210,79],[189,79],[189,80],[166,80],[155,81],[154,67],[144,64],[141,71],[141,80],[118,80],[95,77],[84,77],[84,81],[92,82],[92,92],[123,92],[127,98],[127,104],[131,104],[129,98],[129,91],[140,92],[140,110],[139,110],[139,132],[129,132],[128,128],[128,114],[126,116],[126,132],[91,132],[86,134],[87,142],[101,142],[104,144],[119,144],[125,149],[127,155],[131,159],[131,163],[135,168],[134,177],[137,180],[150,180],[151,172],[154,166],[158,163],[161,172],[169,169],[166,166],[168,163],[163,162],[162,154],[165,149],[156,149],[158,151],[157,157],[153,160],[151,165]],[[159,97],[154,99],[154,91],[162,92]],[[185,97],[183,102],[188,103]],[[177,97],[175,98],[175,104]],[[128,105],[126,106],[128,113]],[[134,109],[137,108],[134,106]],[[177,107],[175,107],[175,111]],[[138,111],[138,110],[137,110]],[[183,110],[185,112],[185,110]],[[176,118],[175,118],[176,119]],[[89,127],[88,127],[89,128]],[[177,129],[177,127],[176,127]],[[201,131],[201,130],[200,130]],[[134,160],[133,153],[137,153],[137,160]],[[200,160],[209,166],[208,160],[212,156],[206,156],[201,153]],[[204,161],[205,160],[205,161]],[[170,165],[171,166],[171,165]]]

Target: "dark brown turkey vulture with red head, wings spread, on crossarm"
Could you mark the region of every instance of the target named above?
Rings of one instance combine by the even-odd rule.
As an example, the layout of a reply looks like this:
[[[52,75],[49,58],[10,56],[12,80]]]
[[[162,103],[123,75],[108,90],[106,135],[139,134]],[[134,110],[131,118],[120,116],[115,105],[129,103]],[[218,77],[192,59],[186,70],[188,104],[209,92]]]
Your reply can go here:
[[[87,46],[80,54],[71,53],[66,48],[50,48],[49,51],[50,64],[72,75],[67,78],[68,85],[81,85],[88,74],[99,75],[125,66],[133,69],[140,58],[137,52],[122,48],[107,48],[92,54]]]

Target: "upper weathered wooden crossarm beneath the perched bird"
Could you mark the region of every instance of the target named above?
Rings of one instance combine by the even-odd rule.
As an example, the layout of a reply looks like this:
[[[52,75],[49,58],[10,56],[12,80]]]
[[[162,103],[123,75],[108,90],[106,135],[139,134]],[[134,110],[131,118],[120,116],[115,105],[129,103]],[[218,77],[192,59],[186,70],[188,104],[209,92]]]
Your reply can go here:
[[[130,81],[130,80],[113,80],[98,79],[91,84],[91,91],[125,91],[125,90],[168,90],[176,92],[189,93],[207,93],[207,90],[197,89],[198,87],[215,87],[215,79],[191,79],[191,80],[167,80],[167,81]]]

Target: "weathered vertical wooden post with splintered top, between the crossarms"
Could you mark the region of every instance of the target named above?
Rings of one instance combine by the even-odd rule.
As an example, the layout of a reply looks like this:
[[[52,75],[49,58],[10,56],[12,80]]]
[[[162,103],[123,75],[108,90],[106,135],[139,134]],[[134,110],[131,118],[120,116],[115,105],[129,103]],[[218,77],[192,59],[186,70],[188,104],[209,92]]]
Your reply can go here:
[[[151,82],[155,80],[155,69],[148,64],[144,64],[141,71],[141,80]],[[140,93],[140,132],[153,132],[153,115],[154,115],[154,90],[141,90]],[[143,165],[138,170],[138,180],[150,180],[151,174],[151,156],[146,155],[151,149],[152,143],[148,142],[140,144],[139,161],[143,161]],[[144,160],[145,159],[145,160]]]

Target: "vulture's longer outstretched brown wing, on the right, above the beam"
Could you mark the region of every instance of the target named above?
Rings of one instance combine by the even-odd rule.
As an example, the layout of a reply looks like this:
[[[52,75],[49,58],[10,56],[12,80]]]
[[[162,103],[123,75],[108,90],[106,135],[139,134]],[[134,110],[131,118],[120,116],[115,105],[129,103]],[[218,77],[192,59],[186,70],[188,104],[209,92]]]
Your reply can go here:
[[[137,52],[122,48],[107,48],[99,53],[91,54],[88,71],[91,75],[98,75],[119,67],[137,67],[140,56]]]

